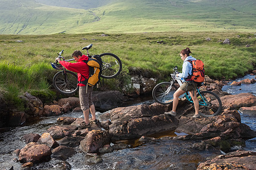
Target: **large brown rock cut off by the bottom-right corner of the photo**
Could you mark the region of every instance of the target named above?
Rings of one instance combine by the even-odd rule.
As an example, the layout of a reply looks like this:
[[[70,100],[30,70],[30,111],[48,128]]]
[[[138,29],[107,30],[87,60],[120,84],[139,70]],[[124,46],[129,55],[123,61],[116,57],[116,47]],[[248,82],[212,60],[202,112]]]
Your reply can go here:
[[[197,170],[200,169],[255,169],[256,152],[236,151],[226,155],[216,156],[212,160],[200,163]]]

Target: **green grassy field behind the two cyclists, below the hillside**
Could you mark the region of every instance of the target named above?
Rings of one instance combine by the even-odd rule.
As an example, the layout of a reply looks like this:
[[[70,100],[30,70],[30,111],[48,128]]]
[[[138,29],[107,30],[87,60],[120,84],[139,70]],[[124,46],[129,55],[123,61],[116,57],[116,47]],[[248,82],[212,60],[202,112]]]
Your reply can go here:
[[[0,35],[0,97],[13,105],[22,105],[18,96],[26,91],[55,99],[52,78],[56,70],[52,69],[50,62],[55,61],[57,52],[62,49],[63,56],[68,59],[74,50],[80,50],[90,43],[93,44],[90,54],[110,52],[121,58],[123,73],[113,80],[114,83],[122,81],[132,67],[148,71],[159,81],[169,80],[174,66],[177,65],[181,71],[183,62],[179,52],[187,47],[191,49],[193,57],[204,61],[205,73],[213,79],[236,78],[255,69],[254,33],[158,32],[101,35]],[[231,42],[229,45],[222,43],[227,38]],[[159,44],[158,41],[163,43]],[[122,90],[121,85],[118,88]]]

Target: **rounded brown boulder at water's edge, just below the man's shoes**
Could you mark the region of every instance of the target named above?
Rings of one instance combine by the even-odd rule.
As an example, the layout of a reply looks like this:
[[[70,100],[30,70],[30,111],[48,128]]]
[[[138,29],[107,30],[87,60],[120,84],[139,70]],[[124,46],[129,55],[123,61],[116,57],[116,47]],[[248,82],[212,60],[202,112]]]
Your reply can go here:
[[[84,152],[95,153],[107,144],[110,144],[110,134],[108,131],[92,130],[80,142],[80,149]]]

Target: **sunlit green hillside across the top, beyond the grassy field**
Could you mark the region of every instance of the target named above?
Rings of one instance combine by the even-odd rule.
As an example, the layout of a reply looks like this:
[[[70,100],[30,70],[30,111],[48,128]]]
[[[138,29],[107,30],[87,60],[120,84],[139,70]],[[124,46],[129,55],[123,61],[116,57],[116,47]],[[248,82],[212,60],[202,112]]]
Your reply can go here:
[[[0,34],[255,32],[255,0],[0,1]]]

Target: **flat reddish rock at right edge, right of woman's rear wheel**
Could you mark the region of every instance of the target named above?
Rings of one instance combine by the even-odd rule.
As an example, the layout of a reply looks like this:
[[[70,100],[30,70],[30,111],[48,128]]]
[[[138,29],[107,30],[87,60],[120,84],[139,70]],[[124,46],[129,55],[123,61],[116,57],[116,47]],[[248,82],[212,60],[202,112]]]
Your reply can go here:
[[[248,93],[238,95],[228,95],[220,97],[222,105],[230,107],[230,109],[240,109],[241,107],[252,107],[256,105],[256,96]]]

